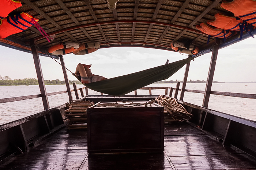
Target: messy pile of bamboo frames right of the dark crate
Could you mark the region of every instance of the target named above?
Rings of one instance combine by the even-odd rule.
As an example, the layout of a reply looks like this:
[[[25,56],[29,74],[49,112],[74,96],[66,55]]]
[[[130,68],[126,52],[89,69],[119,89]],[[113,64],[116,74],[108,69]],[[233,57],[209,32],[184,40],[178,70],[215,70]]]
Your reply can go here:
[[[193,116],[181,104],[178,104],[175,98],[159,95],[155,100],[164,108],[164,122],[183,122],[191,119],[191,116]]]

